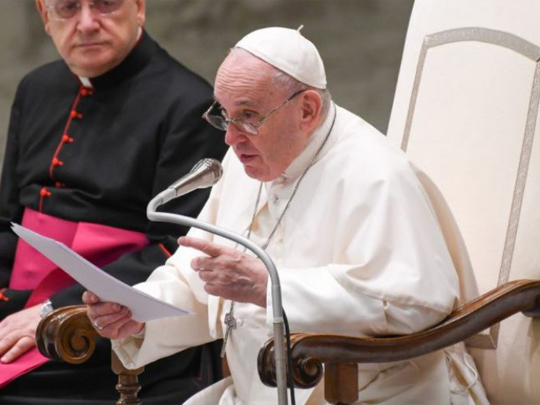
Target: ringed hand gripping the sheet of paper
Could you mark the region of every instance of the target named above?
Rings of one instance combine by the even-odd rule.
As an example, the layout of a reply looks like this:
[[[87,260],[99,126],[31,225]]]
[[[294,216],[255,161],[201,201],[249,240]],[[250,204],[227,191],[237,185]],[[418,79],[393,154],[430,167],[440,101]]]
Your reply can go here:
[[[101,301],[90,291],[83,294],[83,303],[88,308],[86,315],[100,336],[109,339],[126,338],[138,334],[144,328],[144,323],[131,319],[128,308],[119,303]]]

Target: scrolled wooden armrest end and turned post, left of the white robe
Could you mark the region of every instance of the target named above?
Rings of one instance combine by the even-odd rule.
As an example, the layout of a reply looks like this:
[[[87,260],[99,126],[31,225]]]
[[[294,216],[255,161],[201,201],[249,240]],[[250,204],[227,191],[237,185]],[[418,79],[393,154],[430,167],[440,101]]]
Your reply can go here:
[[[86,316],[86,306],[67,306],[54,310],[39,322],[36,343],[39,352],[49,359],[80,364],[92,356],[99,336]],[[112,371],[118,375],[116,390],[120,399],[116,404],[140,405],[138,376],[144,367],[128,370],[112,352]]]

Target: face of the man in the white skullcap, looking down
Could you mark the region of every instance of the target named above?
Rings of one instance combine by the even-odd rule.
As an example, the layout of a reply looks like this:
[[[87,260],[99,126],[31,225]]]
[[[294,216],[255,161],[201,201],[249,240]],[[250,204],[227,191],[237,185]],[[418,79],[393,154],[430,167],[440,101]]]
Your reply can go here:
[[[217,71],[215,97],[227,118],[256,122],[278,107],[291,95],[276,89],[275,70],[266,62],[243,51],[233,51]],[[299,125],[302,95],[278,109],[250,135],[229,125],[225,142],[231,146],[248,176],[271,181],[276,179],[299,155],[309,134]]]

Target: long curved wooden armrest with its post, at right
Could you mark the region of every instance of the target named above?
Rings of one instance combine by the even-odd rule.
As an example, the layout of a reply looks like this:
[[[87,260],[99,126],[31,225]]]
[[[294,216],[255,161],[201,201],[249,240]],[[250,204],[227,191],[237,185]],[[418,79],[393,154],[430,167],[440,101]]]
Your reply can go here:
[[[522,312],[540,315],[540,281],[516,280],[464,304],[434,327],[407,336],[354,338],[329,334],[293,334],[292,369],[295,386],[309,388],[323,377],[325,397],[332,404],[358,399],[358,363],[412,359],[446,348]],[[259,377],[276,387],[274,340],[259,351]]]

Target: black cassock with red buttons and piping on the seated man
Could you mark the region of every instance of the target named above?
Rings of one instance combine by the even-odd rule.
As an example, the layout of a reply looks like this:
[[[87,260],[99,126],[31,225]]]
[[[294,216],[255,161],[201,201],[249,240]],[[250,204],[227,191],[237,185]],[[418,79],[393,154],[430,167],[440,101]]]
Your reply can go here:
[[[104,267],[128,284],[147,279],[187,229],[152,223],[146,206],[201,158],[221,159],[223,132],[201,118],[208,83],[173,60],[148,34],[118,67],[81,84],[63,61],[22,79],[11,113],[0,189],[0,289],[8,287],[25,208],[69,221],[144,233],[150,244]],[[208,191],[163,207],[196,217]],[[74,284],[53,307],[81,303]],[[5,289],[0,319],[23,308],[31,291]],[[6,301],[6,299],[8,301]],[[166,331],[164,331],[166,333]],[[140,380],[147,404],[181,403],[220,374],[215,343],[149,364]],[[48,362],[0,390],[0,403],[98,404],[117,399],[110,344],[100,339],[85,364]]]

